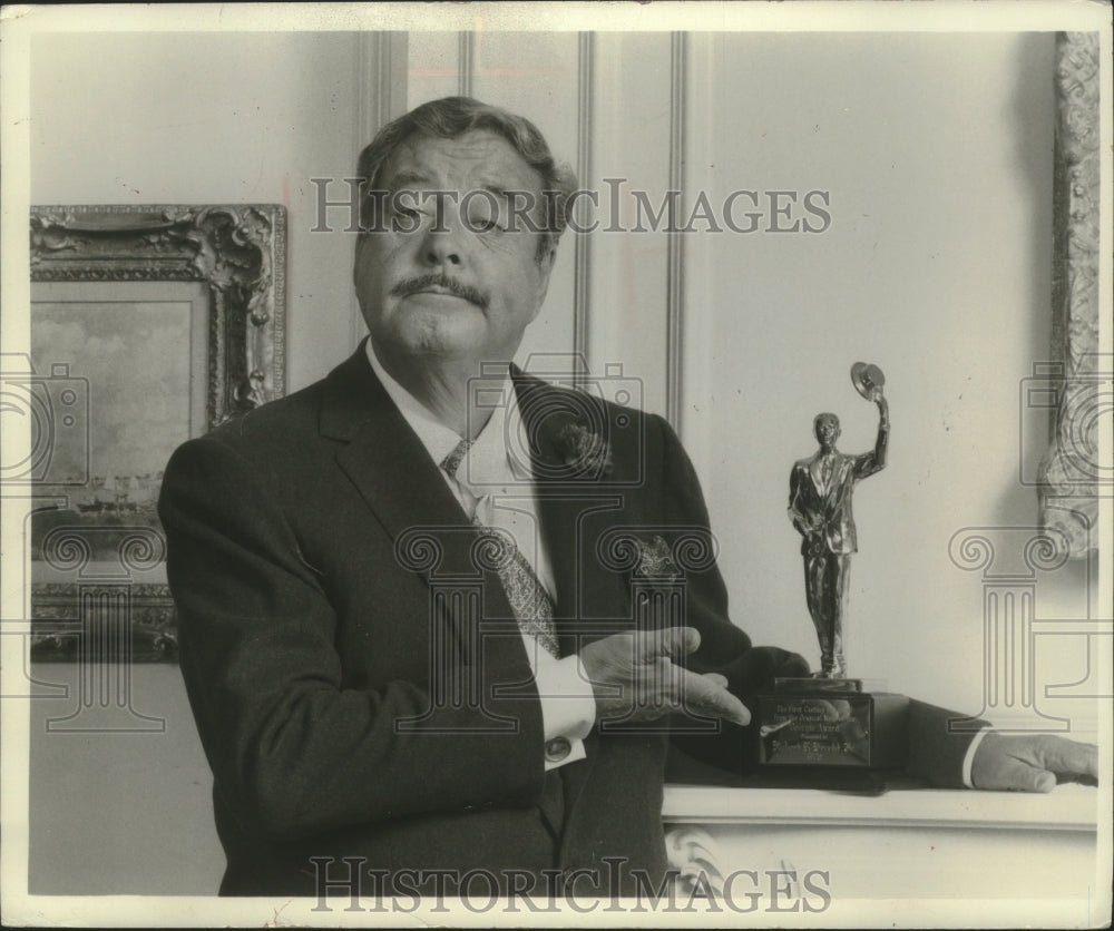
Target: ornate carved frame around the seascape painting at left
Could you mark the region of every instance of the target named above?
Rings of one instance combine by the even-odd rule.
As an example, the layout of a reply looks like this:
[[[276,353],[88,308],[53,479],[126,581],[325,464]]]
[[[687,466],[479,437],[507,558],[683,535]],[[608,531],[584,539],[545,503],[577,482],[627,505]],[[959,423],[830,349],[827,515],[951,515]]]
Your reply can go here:
[[[206,285],[208,429],[285,392],[281,205],[32,207],[30,237],[32,283]],[[51,548],[55,568],[74,580],[31,586],[32,658],[173,659],[177,631],[168,587],[130,577],[163,560],[160,536],[152,529],[123,539],[119,571],[110,576],[102,568],[96,576],[87,571],[89,548],[79,537],[61,535]],[[121,637],[121,624],[127,636]],[[108,639],[117,648],[110,654],[102,649],[104,629],[90,637],[97,625],[113,627]],[[97,655],[92,640],[101,644]]]

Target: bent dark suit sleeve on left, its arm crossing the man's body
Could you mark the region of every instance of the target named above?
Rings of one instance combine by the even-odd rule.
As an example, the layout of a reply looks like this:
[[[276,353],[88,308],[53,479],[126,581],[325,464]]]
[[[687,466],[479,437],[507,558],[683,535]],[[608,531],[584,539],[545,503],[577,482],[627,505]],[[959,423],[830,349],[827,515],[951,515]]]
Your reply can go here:
[[[411,682],[345,687],[336,617],[266,483],[221,438],[182,447],[159,512],[179,612],[182,672],[215,791],[251,834],[291,840],[430,811],[535,804],[536,694],[499,699],[514,734],[482,739],[481,709],[439,709]],[[390,611],[389,597],[368,611]],[[369,645],[369,648],[373,648]],[[446,761],[452,761],[446,766]]]

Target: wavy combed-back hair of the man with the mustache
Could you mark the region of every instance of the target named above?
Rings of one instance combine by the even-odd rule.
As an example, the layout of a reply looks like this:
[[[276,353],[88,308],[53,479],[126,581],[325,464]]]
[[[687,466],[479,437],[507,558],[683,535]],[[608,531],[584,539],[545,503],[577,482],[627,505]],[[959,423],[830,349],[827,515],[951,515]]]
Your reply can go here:
[[[546,253],[556,248],[560,234],[568,225],[569,198],[576,190],[576,175],[554,158],[545,137],[526,117],[471,97],[430,100],[391,120],[375,134],[356,163],[356,177],[364,185],[361,214],[370,203],[371,192],[379,187],[383,166],[402,143],[417,135],[455,139],[473,129],[486,129],[501,136],[541,176],[541,198],[536,214],[544,232],[538,243],[538,261],[541,261]],[[370,225],[363,223],[364,218],[361,215],[361,235],[370,229]]]

